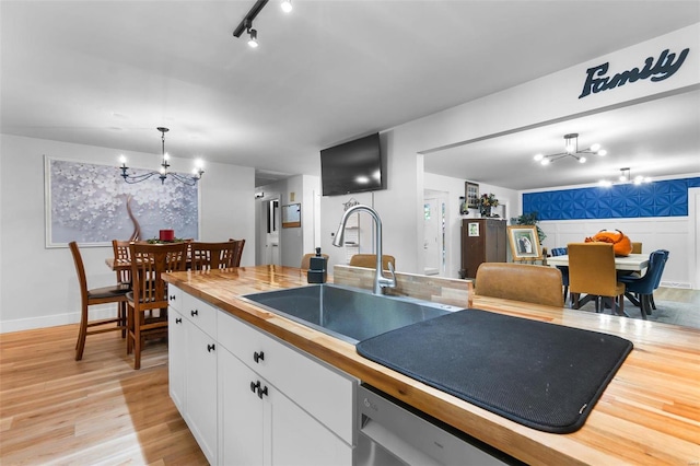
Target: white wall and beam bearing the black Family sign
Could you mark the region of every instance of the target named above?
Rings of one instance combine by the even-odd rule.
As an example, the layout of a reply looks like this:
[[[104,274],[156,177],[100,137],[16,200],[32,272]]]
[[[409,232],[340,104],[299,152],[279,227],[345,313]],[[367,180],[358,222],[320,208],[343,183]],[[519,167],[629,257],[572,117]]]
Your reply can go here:
[[[604,61],[614,61],[620,69],[633,68],[639,66],[639,57],[655,56],[666,48],[682,49],[693,46],[698,35],[700,24],[693,24],[382,132],[384,153],[388,159],[388,186],[386,190],[375,191],[374,207],[384,224],[384,251],[388,254],[390,248],[396,256],[397,268],[401,271],[420,273],[424,269],[422,200],[427,186],[421,153],[532,125],[546,125],[660,98],[668,93],[692,90],[700,84],[698,54],[689,54],[673,79],[660,82],[638,81],[595,96],[579,98],[587,68]],[[434,186],[430,188],[435,189]],[[327,210],[328,206],[328,201],[322,200],[322,241],[329,245],[329,232],[335,232],[339,214],[334,213],[337,206],[332,205],[332,209]],[[508,217],[517,214],[520,203],[517,210],[510,209]],[[328,215],[338,220],[329,220]]]

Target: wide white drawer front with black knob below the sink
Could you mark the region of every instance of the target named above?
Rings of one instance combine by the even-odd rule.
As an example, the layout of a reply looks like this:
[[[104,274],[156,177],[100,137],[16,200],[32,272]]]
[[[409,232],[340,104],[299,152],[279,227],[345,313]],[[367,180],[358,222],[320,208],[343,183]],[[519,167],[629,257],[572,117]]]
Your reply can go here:
[[[345,442],[353,444],[354,378],[226,312],[220,314],[220,345]]]

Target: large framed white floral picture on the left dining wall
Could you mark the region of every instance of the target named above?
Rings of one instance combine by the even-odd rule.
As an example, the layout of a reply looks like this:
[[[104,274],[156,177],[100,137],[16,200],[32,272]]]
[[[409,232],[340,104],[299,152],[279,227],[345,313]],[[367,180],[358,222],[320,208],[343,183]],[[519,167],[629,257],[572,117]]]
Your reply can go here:
[[[163,229],[199,237],[199,185],[158,177],[127,184],[116,165],[50,155],[44,155],[44,180],[46,248],[68,247],[71,241],[110,247],[115,238],[156,238]]]

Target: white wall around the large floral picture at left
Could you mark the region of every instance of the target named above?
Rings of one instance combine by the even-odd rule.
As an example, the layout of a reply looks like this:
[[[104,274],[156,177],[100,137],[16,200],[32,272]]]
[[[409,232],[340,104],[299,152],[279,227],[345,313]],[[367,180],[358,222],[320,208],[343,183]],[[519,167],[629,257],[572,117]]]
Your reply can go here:
[[[45,248],[44,154],[115,164],[118,151],[0,135],[0,331],[79,322],[80,294],[68,248]],[[125,152],[133,166],[154,166],[159,156]],[[189,161],[174,159],[174,170]],[[242,265],[254,263],[254,170],[208,164],[201,180],[200,238],[245,238]],[[167,183],[167,182],[166,182]],[[114,283],[105,265],[112,247],[81,248],[88,284]],[[97,310],[114,313],[115,306]]]

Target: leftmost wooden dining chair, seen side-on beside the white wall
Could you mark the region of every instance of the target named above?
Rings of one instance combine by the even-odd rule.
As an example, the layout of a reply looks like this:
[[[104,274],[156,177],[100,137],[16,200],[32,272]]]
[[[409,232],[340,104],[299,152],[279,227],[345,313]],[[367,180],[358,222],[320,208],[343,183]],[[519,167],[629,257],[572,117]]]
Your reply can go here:
[[[124,330],[127,326],[126,307],[122,306],[127,301],[129,289],[115,284],[103,288],[88,288],[88,279],[85,277],[85,267],[83,258],[74,241],[68,243],[71,254],[73,255],[73,264],[78,273],[78,283],[80,284],[80,327],[78,330],[78,342],[75,343],[75,361],[83,359],[85,349],[85,339],[88,335],[103,334],[105,331]],[[117,303],[117,316],[102,319],[90,321],[89,307],[95,304]],[[91,328],[94,328],[91,330]]]

